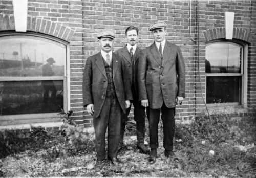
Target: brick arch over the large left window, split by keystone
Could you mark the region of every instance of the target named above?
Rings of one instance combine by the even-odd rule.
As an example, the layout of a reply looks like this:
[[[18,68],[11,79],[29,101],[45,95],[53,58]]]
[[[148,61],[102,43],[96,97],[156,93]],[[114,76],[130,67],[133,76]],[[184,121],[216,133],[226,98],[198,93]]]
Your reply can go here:
[[[13,15],[0,14],[0,31],[15,30]],[[75,31],[70,27],[55,23],[53,21],[30,17],[27,18],[27,31],[51,35],[70,42]]]

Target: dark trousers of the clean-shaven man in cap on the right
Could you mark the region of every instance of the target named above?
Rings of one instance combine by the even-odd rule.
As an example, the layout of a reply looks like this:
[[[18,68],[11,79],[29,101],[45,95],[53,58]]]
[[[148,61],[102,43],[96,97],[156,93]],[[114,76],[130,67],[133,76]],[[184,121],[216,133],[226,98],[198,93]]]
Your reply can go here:
[[[148,108],[147,117],[150,127],[150,148],[158,148],[158,123],[163,122],[163,147],[165,150],[173,150],[173,138],[175,132],[175,107],[168,108],[165,103],[159,109]]]

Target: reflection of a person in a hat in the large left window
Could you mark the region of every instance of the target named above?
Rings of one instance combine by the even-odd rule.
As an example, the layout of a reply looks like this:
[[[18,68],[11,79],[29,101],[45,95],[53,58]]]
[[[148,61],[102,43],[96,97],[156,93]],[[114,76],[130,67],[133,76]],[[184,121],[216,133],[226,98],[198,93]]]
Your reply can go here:
[[[46,60],[47,64],[42,66],[42,76],[53,76],[54,72],[52,70],[52,64],[55,63],[53,58],[49,58]],[[51,100],[50,102],[54,104],[56,98],[56,87],[54,82],[51,80],[42,81],[42,86],[44,87],[44,104],[48,103],[49,100],[49,92],[51,91]]]

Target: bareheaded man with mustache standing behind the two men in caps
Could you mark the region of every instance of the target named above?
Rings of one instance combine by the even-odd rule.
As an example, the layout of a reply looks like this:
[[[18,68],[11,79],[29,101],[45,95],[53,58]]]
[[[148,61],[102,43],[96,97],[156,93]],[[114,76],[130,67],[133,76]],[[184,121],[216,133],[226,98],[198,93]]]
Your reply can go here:
[[[137,47],[139,29],[134,26],[126,28],[125,35],[127,44],[117,50],[117,54],[125,59],[126,74],[129,76],[130,86],[133,94],[133,106],[134,106],[134,120],[136,121],[136,136],[137,136],[137,148],[143,153],[149,154],[150,149],[144,145],[145,137],[145,107],[141,105],[139,101],[138,81],[137,81],[137,68],[140,60],[142,50]],[[121,133],[119,140],[119,150],[123,147],[123,136],[125,130],[125,123],[128,120],[131,106],[126,109],[126,113],[122,116]]]

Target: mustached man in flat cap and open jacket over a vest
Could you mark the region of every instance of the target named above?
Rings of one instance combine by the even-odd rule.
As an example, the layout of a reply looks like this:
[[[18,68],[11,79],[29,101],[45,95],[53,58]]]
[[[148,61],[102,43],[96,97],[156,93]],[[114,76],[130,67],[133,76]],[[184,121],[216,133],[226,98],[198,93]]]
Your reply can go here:
[[[90,56],[83,72],[83,106],[93,116],[97,165],[105,160],[105,133],[108,128],[108,160],[118,165],[121,115],[132,100],[129,78],[120,56],[112,52],[114,33],[98,34],[101,51]]]

